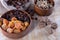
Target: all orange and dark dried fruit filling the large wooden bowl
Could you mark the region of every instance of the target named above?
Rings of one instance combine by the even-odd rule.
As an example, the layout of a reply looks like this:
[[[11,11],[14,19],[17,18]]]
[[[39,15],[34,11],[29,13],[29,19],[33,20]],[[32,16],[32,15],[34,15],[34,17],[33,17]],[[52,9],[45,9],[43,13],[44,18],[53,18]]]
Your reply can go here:
[[[30,24],[29,16],[20,10],[9,11],[2,18],[4,18],[2,28],[8,33],[24,31]]]

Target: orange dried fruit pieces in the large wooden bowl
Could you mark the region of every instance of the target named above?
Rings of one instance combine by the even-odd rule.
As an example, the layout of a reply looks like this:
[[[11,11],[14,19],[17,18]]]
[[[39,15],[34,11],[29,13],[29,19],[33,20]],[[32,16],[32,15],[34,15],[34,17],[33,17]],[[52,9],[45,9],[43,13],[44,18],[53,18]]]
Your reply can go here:
[[[0,22],[1,23],[1,22]],[[20,33],[24,31],[29,26],[29,22],[22,22],[13,17],[11,21],[3,19],[3,24],[1,25],[2,29],[8,33]]]

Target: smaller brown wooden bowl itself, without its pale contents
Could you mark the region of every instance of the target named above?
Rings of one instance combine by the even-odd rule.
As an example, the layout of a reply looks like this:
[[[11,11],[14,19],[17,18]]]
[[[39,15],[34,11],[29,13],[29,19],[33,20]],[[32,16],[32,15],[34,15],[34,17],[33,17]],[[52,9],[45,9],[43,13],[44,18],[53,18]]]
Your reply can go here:
[[[36,5],[36,0],[34,1],[34,10],[36,11],[37,14],[39,14],[40,16],[49,16],[52,12],[53,12],[53,7],[54,7],[54,1],[53,0],[49,0],[49,2],[53,5],[52,8],[50,9],[41,9]]]

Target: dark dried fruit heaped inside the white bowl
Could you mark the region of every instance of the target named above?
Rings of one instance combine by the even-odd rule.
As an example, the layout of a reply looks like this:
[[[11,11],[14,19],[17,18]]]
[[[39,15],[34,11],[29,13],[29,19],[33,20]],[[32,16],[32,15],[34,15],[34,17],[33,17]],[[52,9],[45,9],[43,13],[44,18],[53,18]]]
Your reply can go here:
[[[8,0],[6,1],[7,5],[14,6],[16,8],[21,7],[22,5],[26,4],[29,2],[29,0]]]

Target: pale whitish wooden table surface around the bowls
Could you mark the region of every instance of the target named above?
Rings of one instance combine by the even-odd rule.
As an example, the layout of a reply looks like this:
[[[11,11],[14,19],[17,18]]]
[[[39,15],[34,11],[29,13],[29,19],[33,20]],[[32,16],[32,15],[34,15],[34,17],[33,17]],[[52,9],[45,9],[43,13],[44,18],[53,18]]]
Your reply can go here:
[[[0,15],[6,11],[7,9],[5,9],[0,3]],[[20,39],[9,39],[0,31],[0,40],[60,40],[60,0],[55,0],[54,12],[49,16],[49,18],[58,24],[57,30],[52,35],[46,36],[46,34],[39,28],[39,24],[35,24],[35,29]]]

